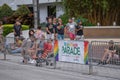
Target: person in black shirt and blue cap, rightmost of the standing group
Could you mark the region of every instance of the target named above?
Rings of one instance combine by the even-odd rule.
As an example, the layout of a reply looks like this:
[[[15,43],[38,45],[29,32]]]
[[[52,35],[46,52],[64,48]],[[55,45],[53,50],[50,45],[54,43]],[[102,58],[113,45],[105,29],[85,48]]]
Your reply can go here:
[[[76,40],[84,40],[82,21],[78,20],[76,26]]]

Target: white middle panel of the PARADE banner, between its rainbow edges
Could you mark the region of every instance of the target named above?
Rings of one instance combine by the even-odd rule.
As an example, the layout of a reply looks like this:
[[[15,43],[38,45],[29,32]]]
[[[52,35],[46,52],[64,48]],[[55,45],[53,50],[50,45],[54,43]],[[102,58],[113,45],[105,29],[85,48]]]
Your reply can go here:
[[[84,64],[84,41],[59,41],[59,61]]]

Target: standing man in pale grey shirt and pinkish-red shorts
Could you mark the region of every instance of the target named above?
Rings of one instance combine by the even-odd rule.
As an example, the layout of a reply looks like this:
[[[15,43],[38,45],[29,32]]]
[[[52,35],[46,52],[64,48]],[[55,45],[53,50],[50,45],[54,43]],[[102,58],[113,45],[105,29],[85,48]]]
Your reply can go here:
[[[69,35],[70,40],[75,39],[75,27],[76,24],[73,22],[73,19],[70,18],[69,22],[66,24],[66,32]]]

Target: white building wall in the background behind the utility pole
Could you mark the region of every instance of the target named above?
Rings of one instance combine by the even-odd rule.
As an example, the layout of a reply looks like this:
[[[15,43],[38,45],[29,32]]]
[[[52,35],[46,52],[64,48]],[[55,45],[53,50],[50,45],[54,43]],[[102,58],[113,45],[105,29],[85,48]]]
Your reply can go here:
[[[39,0],[40,3],[40,22],[46,22],[46,17],[48,17],[47,13],[47,6],[51,4],[45,4],[45,3],[52,3],[56,0]],[[58,2],[61,0],[58,0]],[[16,10],[18,8],[17,5],[21,4],[32,4],[32,0],[0,0],[0,6],[2,6],[4,3],[8,4],[13,10]],[[44,3],[44,4],[42,4]],[[62,5],[56,6],[56,17],[59,17],[60,15],[64,14],[64,10]]]

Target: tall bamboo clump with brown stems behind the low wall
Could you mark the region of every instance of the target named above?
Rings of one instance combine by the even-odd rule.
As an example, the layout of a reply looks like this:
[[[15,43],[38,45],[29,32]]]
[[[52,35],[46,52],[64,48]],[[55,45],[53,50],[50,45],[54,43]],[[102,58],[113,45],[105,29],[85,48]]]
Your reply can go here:
[[[62,0],[69,17],[84,16],[93,24],[120,24],[120,0]]]

